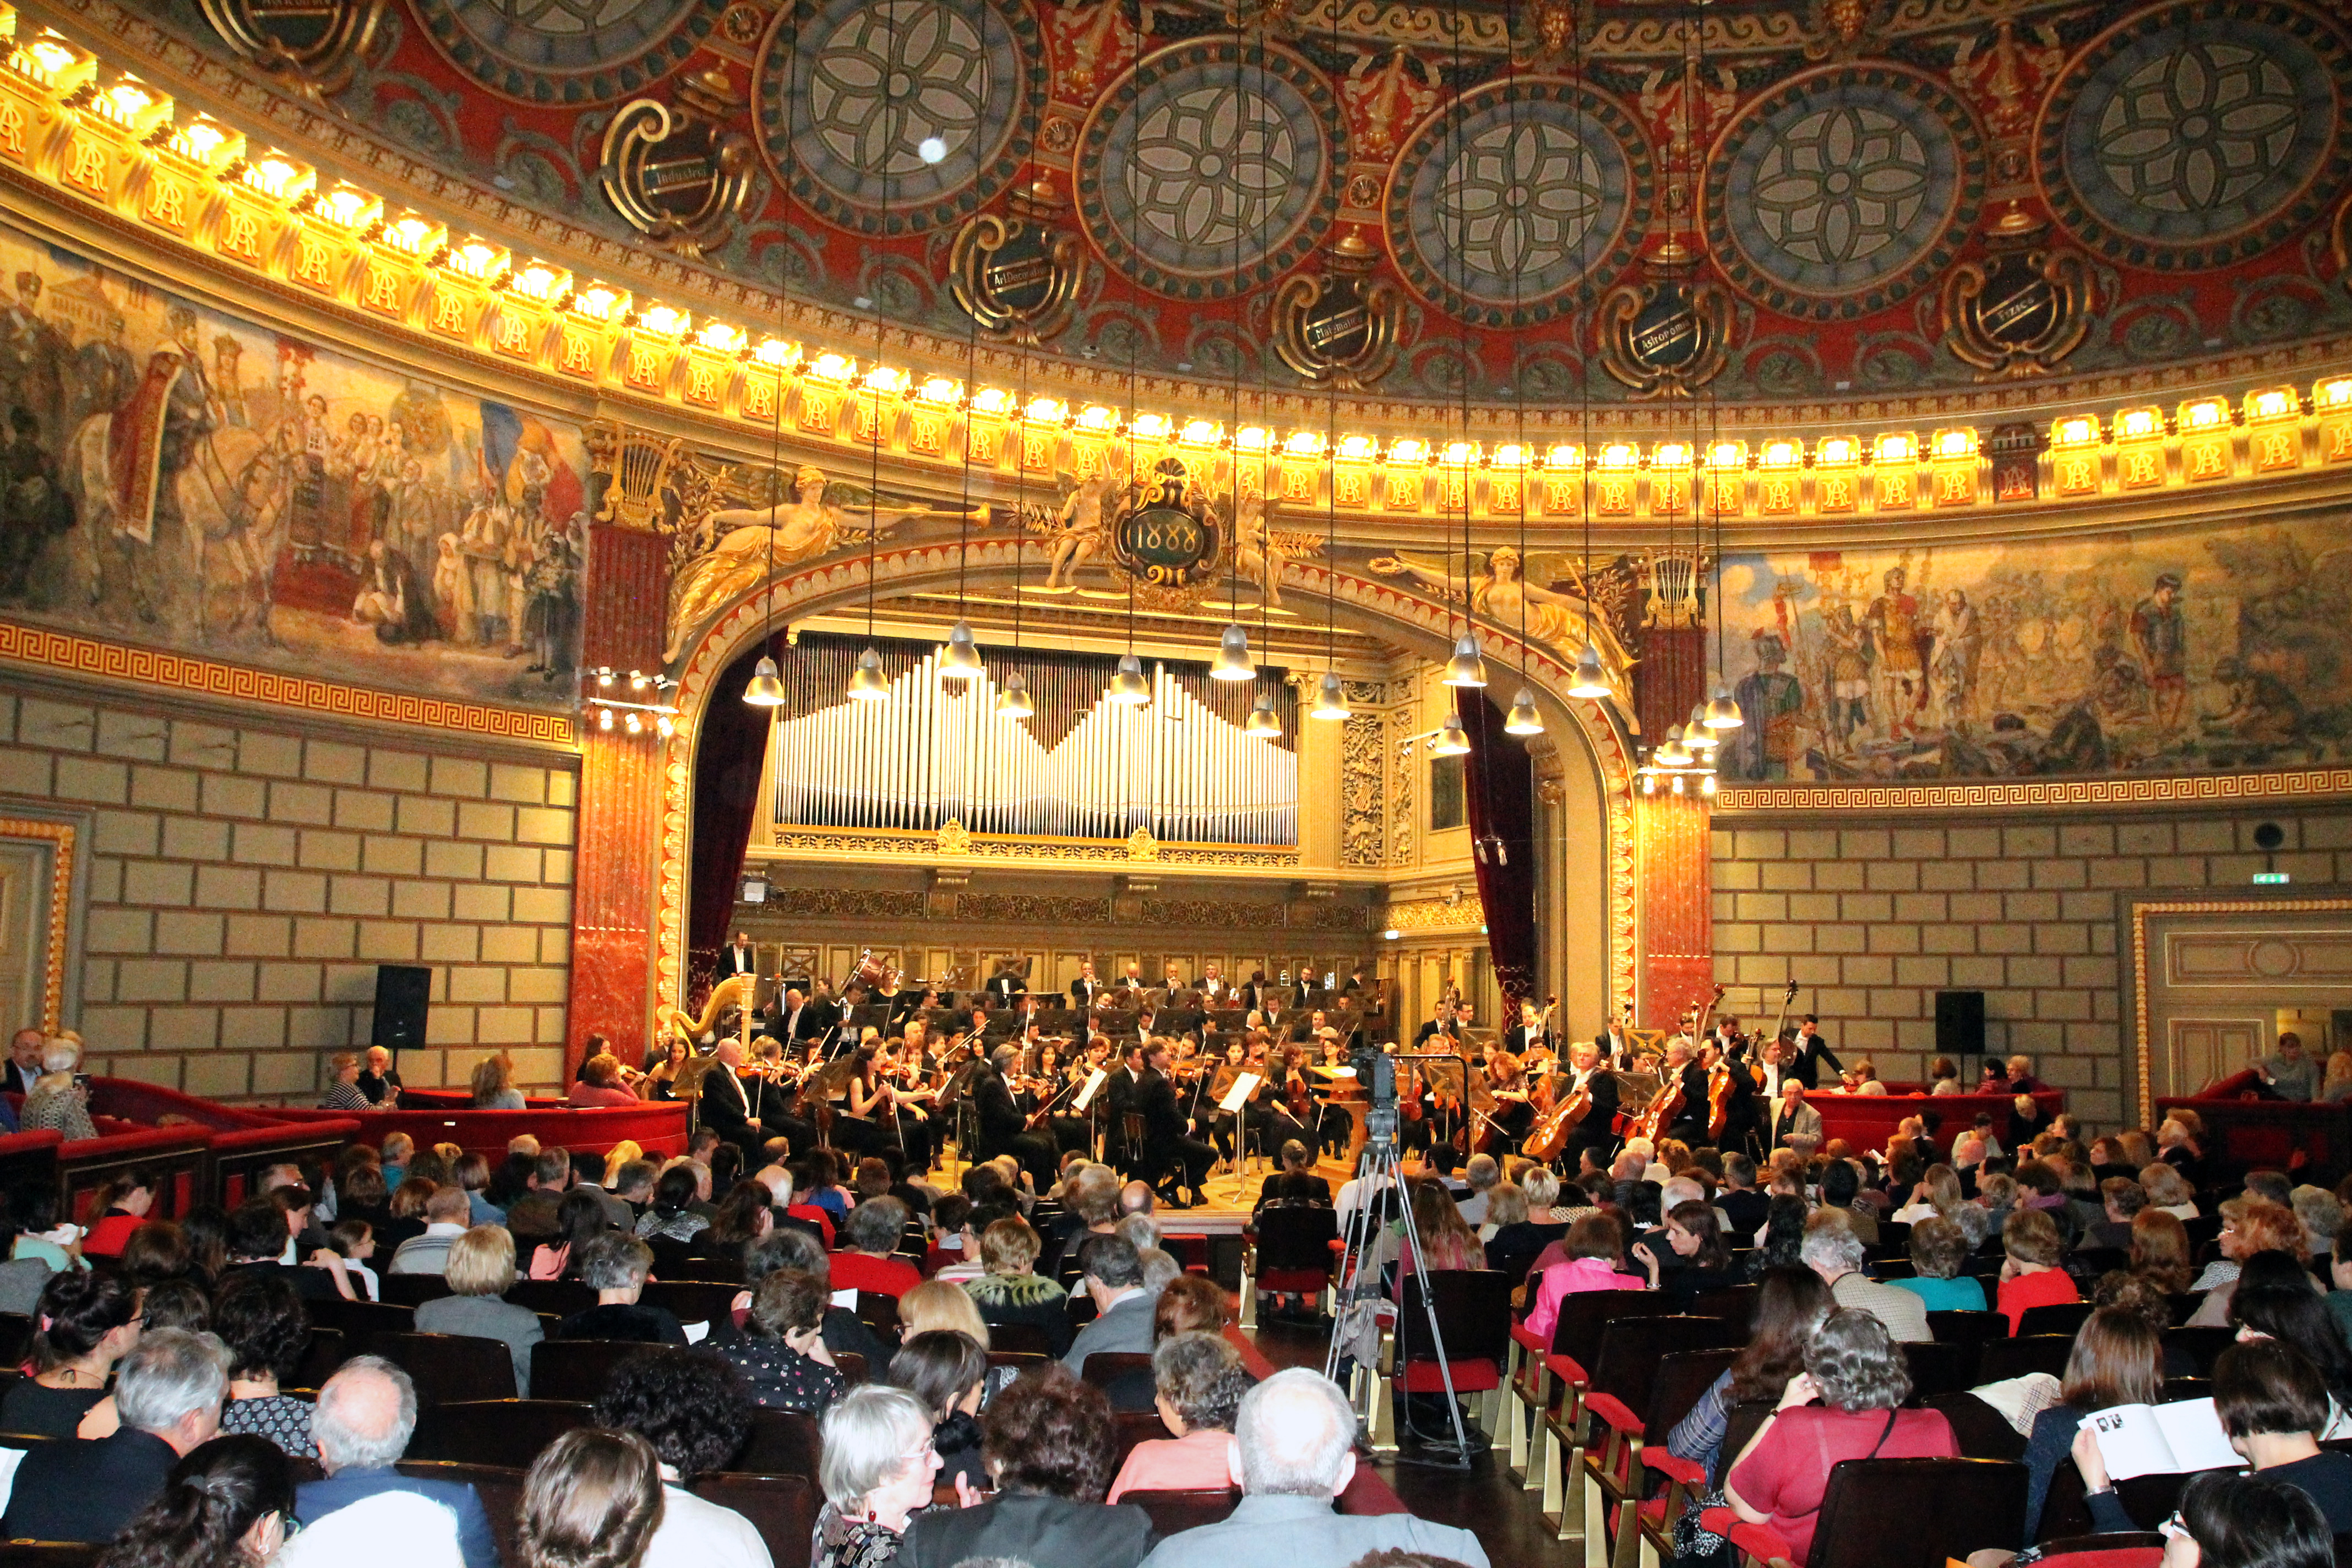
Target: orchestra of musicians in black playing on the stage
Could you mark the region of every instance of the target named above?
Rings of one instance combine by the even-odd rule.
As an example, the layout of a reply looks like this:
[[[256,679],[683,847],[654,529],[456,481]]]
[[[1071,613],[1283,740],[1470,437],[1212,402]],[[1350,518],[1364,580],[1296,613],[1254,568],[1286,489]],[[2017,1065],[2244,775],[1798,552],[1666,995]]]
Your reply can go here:
[[[1795,985],[1769,1032],[1717,1016],[1715,987],[1672,1030],[1639,1030],[1613,1009],[1569,1037],[1555,1032],[1557,997],[1505,997],[1510,1027],[1482,1032],[1449,985],[1399,1044],[1385,987],[1364,971],[1345,987],[1291,985],[1289,971],[1235,983],[1209,961],[1185,980],[1171,961],[1162,985],[1143,985],[1136,961],[1117,980],[1082,961],[1033,990],[1028,959],[997,959],[969,987],[962,973],[910,980],[870,952],[837,983],[760,976],[743,940],[727,952],[736,969],[722,978],[764,980],[767,1001],[746,1016],[734,1001],[757,992],[729,992],[701,1037],[670,1013],[673,1034],[626,1074],[637,1095],[706,1103],[706,1072],[724,1067],[741,1105],[724,1093],[699,1112],[743,1143],[891,1152],[915,1171],[1011,1154],[1042,1185],[1082,1150],[1171,1204],[1204,1201],[1211,1166],[1244,1173],[1294,1138],[1315,1159],[1350,1157],[1369,1110],[1364,1048],[1399,1058],[1406,1152],[1439,1171],[1489,1154],[1566,1175],[1606,1164],[1628,1138],[1762,1154],[1783,1084],[1828,1058],[1811,1018],[1783,1027]],[[739,1048],[720,1053],[720,1041]]]

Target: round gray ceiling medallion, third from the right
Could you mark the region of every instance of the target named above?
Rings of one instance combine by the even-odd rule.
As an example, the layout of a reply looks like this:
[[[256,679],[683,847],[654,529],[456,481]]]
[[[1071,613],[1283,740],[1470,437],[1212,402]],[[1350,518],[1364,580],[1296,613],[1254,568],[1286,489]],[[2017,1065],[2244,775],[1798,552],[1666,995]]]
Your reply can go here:
[[[1404,282],[1479,327],[1576,308],[1649,214],[1649,143],[1632,118],[1545,78],[1486,82],[1423,120],[1385,200]]]

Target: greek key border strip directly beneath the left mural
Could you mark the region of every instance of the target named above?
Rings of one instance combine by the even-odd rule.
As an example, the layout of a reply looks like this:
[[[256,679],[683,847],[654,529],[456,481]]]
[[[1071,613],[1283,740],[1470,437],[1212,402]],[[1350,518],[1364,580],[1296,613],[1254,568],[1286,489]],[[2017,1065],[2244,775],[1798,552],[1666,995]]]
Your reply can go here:
[[[454,729],[468,736],[492,736],[499,741],[536,741],[543,745],[576,745],[572,719],[553,712],[524,712],[513,708],[487,708],[456,698],[421,696],[412,691],[372,691],[367,686],[343,686],[341,682],[310,679],[303,675],[278,675],[247,665],[226,665],[191,654],[162,649],[134,649],[120,642],[99,642],[16,621],[0,621],[0,658],[71,675],[99,675],[106,679],[139,682],[169,691],[193,691],[198,696],[221,696],[245,703],[270,703],[275,708],[299,708],[325,712],[339,719],[369,719],[374,724],[412,724],[419,729]]]

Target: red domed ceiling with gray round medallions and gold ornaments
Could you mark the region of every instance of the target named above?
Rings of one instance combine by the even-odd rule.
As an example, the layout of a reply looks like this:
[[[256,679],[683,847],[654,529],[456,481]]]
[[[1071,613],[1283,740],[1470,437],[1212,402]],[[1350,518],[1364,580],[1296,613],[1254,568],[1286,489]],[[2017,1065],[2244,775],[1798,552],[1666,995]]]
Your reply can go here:
[[[435,160],[1096,367],[1804,400],[2352,329],[2352,42],[2284,0],[374,2],[327,101]]]

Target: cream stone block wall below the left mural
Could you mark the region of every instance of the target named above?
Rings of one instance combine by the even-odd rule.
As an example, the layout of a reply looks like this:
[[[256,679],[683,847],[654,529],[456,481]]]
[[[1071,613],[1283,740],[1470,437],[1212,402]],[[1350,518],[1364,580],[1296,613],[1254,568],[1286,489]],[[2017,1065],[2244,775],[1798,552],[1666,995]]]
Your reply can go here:
[[[365,1046],[376,964],[430,964],[409,1084],[485,1048],[562,1077],[579,773],[301,717],[158,715],[0,696],[0,813],[87,813],[89,1070],[188,1093],[308,1103]]]

